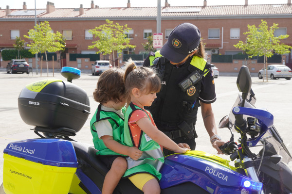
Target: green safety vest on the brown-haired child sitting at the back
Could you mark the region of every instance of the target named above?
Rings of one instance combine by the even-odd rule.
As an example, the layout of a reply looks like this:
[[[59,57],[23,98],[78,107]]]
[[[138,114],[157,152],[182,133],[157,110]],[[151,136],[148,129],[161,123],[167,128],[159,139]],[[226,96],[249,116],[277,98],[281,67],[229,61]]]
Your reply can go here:
[[[98,150],[96,154],[99,155],[122,155],[118,154],[112,150],[110,150],[103,142],[103,140],[99,139],[97,131],[95,129],[94,123],[102,120],[108,120],[110,122],[112,128],[112,138],[120,144],[123,144],[124,135],[124,119],[117,113],[111,111],[103,111],[101,110],[101,104],[98,105],[97,110],[95,111],[91,121],[91,134],[93,137],[93,144],[95,149]]]

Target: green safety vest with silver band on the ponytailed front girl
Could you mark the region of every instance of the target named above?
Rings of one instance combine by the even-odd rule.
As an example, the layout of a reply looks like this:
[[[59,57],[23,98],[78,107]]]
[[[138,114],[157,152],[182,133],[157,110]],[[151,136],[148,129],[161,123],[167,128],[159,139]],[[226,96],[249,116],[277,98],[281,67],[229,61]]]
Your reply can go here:
[[[131,117],[131,114],[137,109],[144,111],[140,107],[130,103],[125,113],[125,146],[134,146],[132,134],[128,125],[128,119]],[[148,118],[151,121],[149,116]],[[159,170],[164,163],[164,156],[160,145],[151,138],[149,138],[143,130],[141,130],[139,139],[140,141],[138,144],[138,148],[143,151],[143,154],[137,161],[132,160],[130,157],[127,158],[128,170],[126,171],[124,177],[131,177],[138,173],[148,173],[160,180],[161,174],[159,173]]]

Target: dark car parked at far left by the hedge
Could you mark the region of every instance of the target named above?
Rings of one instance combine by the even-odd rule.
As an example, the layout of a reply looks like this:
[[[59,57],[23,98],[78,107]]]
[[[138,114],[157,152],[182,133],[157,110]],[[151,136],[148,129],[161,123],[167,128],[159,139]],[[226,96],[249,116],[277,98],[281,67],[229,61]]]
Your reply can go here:
[[[29,74],[29,72],[32,71],[32,68],[29,67],[25,59],[12,59],[6,66],[6,71],[7,73],[21,72],[21,73]]]

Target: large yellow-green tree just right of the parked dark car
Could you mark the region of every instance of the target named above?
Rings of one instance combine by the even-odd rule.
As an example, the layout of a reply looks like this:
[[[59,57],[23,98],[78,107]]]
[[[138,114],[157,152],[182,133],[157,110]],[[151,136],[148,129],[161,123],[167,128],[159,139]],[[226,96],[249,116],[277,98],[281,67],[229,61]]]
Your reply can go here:
[[[60,32],[52,32],[52,28],[48,21],[40,22],[37,24],[34,29],[29,30],[28,36],[24,35],[25,38],[31,40],[30,44],[27,44],[30,47],[29,51],[33,54],[38,52],[45,53],[46,64],[47,64],[47,73],[49,76],[49,67],[48,67],[48,52],[56,52],[58,50],[64,49],[63,36]]]

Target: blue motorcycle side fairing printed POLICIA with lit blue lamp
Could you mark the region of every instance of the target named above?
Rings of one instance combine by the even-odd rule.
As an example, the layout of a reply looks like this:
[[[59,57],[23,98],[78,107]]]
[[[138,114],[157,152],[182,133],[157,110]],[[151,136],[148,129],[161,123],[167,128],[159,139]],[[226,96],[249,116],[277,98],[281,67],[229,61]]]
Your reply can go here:
[[[162,189],[192,182],[211,194],[230,192],[240,194],[242,189],[250,190],[250,188],[243,187],[245,180],[256,185],[256,191],[260,191],[262,188],[262,183],[253,181],[228,166],[195,155],[173,154],[167,156],[160,172],[163,175],[160,180]]]

